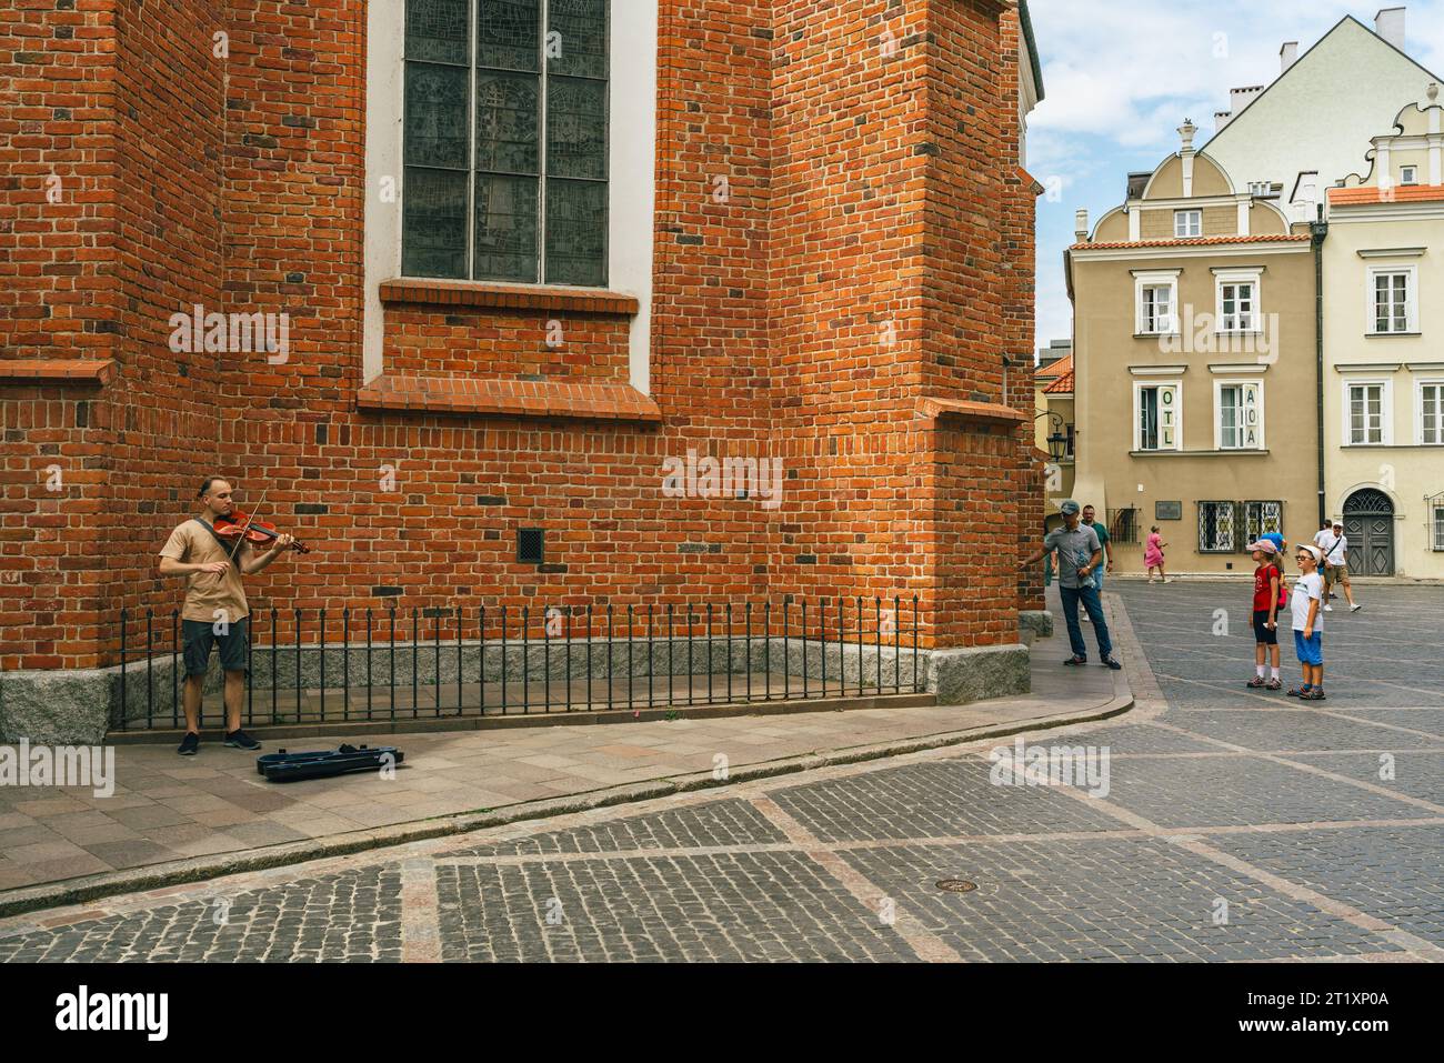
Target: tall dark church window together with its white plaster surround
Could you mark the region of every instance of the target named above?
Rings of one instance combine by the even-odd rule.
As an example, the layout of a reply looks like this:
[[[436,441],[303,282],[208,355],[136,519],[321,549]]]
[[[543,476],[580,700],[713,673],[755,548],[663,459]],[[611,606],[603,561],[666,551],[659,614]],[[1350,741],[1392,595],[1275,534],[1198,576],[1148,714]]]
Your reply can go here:
[[[365,196],[362,380],[384,371],[381,285],[451,274],[635,296],[628,380],[650,393],[658,0],[386,0],[365,20],[381,194]]]

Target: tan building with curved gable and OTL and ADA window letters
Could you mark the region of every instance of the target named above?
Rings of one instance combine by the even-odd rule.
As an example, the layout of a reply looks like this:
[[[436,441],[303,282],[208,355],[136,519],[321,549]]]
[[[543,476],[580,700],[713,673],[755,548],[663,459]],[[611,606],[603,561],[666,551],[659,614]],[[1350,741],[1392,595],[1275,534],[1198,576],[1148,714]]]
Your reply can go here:
[[[1315,247],[1276,198],[1181,150],[1066,254],[1076,482],[1122,572],[1158,526],[1171,572],[1252,570],[1262,532],[1317,530]]]

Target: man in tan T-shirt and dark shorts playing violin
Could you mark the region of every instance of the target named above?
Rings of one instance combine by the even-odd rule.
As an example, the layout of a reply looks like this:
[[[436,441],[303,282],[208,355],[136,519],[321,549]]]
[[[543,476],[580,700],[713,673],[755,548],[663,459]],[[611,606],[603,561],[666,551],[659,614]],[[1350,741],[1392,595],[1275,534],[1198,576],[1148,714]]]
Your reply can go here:
[[[211,661],[212,643],[221,651],[225,670],[225,744],[237,750],[258,750],[260,742],[241,731],[241,700],[245,692],[245,648],[248,609],[241,576],[270,565],[292,544],[289,534],[276,536],[264,553],[251,549],[244,536],[228,546],[215,530],[219,519],[235,513],[231,485],[206,477],[196,493],[205,507],[201,516],[176,526],[160,550],[162,576],[185,576],[185,607],[180,624],[185,638],[185,726],[176,751],[193,757],[201,745],[201,687]]]

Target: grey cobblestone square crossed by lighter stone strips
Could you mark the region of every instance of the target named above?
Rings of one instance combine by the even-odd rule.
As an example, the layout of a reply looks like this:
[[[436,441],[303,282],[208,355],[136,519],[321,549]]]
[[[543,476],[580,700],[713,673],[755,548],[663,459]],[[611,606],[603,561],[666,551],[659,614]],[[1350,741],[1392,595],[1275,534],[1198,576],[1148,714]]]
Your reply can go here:
[[[1242,686],[1245,586],[1109,589],[1138,708],[1021,737],[1108,747],[1083,784],[934,750],[32,913],[0,959],[1444,958],[1444,592],[1360,588],[1305,709]]]

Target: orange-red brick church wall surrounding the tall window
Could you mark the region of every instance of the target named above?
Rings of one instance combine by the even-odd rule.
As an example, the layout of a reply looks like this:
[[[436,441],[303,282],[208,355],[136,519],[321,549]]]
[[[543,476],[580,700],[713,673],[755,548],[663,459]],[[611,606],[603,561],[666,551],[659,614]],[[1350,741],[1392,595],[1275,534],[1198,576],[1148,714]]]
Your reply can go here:
[[[55,432],[92,448],[95,484],[49,510],[10,510],[7,494],[0,557],[29,556],[27,536],[87,520],[87,504],[123,533],[65,547],[84,605],[42,609],[39,585],[6,594],[7,667],[114,660],[121,605],[169,618],[179,582],[155,576],[155,550],[208,472],[243,506],[266,491],[263,513],[315,546],[248,579],[261,611],[917,594],[924,646],[1017,637],[1031,432],[917,412],[924,394],[1031,403],[1025,381],[1004,396],[1001,376],[1031,315],[1031,244],[1011,259],[1031,194],[1011,178],[998,103],[1015,66],[1001,4],[663,0],[660,426],[357,410],[365,6],[162,7],[116,3],[124,207],[113,250],[81,274],[116,289],[100,321],[118,322],[118,380],[84,415],[53,410],[68,425]],[[0,220],[17,205],[6,191]],[[192,303],[287,313],[286,360],[172,354],[168,318]],[[562,348],[544,344],[552,318]],[[386,371],[625,380],[624,334],[611,316],[399,305]],[[0,393],[7,428],[32,416],[16,397]],[[38,461],[43,439],[7,436],[7,455]],[[781,507],[666,497],[663,459],[689,451],[783,458]],[[514,532],[533,524],[549,534],[543,569],[514,562]]]

